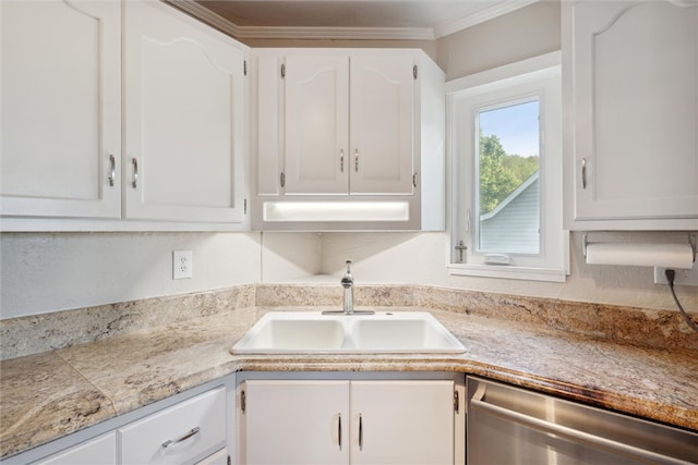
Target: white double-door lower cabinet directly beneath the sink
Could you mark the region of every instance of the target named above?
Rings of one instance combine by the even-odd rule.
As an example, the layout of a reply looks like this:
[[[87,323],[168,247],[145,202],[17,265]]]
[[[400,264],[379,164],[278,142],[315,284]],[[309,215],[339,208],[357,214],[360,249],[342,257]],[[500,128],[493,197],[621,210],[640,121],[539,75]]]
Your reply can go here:
[[[455,390],[454,380],[246,380],[239,463],[461,463]]]

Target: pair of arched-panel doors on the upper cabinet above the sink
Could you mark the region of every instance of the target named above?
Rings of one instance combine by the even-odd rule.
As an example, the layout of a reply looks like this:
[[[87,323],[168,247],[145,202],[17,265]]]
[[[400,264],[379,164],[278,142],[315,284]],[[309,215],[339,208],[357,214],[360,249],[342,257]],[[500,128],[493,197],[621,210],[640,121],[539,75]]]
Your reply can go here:
[[[285,193],[412,194],[414,56],[286,57]]]

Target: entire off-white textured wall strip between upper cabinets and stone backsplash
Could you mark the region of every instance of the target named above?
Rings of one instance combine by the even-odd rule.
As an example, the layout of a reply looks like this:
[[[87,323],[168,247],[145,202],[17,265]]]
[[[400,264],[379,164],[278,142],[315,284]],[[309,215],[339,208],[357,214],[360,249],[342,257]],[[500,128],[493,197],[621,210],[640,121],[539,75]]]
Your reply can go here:
[[[624,236],[628,236],[624,234]],[[683,241],[684,233],[633,240]],[[362,284],[425,284],[673,310],[652,268],[587,266],[573,234],[565,283],[450,277],[446,233],[2,233],[0,318],[44,314],[256,282],[339,285],[346,259]],[[172,280],[171,252],[193,250],[194,278]],[[698,313],[698,287],[677,286]]]

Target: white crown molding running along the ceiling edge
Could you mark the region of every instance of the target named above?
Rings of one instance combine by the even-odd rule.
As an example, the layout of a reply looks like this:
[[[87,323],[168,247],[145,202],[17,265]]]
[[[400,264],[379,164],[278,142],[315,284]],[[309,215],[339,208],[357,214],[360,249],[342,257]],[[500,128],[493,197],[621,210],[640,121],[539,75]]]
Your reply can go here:
[[[503,0],[436,27],[278,27],[238,26],[194,0],[163,0],[237,39],[434,40],[541,0]]]

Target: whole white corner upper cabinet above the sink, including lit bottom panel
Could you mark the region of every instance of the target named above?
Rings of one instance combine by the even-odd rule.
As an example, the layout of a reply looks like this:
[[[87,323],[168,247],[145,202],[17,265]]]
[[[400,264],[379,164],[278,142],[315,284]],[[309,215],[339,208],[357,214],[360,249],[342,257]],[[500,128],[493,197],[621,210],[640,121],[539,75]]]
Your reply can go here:
[[[444,229],[444,74],[421,50],[254,56],[254,228]]]

